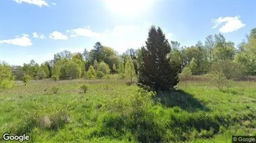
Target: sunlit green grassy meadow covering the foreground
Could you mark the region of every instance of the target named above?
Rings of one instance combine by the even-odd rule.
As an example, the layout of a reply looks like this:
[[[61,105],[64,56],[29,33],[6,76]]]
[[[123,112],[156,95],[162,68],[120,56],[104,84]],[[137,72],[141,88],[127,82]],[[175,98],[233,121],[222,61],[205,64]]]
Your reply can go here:
[[[178,87],[151,99],[117,75],[16,82],[0,90],[0,134],[26,132],[29,142],[231,142],[232,135],[256,135],[256,82],[234,82],[228,92],[207,80]]]

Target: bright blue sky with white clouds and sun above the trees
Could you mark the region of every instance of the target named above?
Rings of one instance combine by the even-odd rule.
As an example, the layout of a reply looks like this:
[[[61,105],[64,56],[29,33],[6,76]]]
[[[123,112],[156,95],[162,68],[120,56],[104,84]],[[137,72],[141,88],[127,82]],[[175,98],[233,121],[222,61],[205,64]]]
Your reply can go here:
[[[151,25],[181,46],[215,33],[237,45],[256,27],[256,0],[0,0],[1,61],[40,64],[97,41],[121,54],[145,45]]]

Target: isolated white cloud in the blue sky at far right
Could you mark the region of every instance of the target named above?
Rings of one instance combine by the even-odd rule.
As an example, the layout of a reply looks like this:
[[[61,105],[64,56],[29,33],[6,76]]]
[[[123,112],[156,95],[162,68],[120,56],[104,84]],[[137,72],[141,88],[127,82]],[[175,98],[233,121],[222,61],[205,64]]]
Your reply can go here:
[[[222,27],[219,28],[219,32],[235,32],[245,26],[239,18],[240,16],[238,15],[235,17],[219,17],[218,19],[212,19],[212,22],[215,24],[212,28],[218,28],[222,25]]]

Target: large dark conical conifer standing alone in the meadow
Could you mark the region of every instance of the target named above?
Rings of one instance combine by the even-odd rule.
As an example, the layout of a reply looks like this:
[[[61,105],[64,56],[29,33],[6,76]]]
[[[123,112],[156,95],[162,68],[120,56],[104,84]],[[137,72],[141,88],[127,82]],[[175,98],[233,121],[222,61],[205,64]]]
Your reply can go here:
[[[145,43],[138,53],[138,85],[153,91],[173,89],[181,67],[173,66],[168,58],[171,46],[161,28],[151,26]]]

